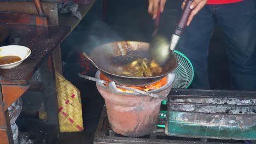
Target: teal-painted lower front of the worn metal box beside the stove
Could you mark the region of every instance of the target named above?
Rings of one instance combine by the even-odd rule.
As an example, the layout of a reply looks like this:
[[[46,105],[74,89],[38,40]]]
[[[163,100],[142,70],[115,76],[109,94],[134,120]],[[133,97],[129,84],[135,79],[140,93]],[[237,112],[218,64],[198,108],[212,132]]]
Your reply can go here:
[[[165,133],[206,139],[256,140],[256,116],[168,111]]]

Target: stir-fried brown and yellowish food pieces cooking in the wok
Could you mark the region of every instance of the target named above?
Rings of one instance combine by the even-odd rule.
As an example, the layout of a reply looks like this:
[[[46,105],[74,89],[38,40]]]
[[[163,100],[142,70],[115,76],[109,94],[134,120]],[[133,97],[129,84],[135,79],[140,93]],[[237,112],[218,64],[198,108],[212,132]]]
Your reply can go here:
[[[161,72],[162,67],[154,60],[150,61],[148,58],[139,58],[118,68],[119,74],[131,77],[150,77],[159,75]]]

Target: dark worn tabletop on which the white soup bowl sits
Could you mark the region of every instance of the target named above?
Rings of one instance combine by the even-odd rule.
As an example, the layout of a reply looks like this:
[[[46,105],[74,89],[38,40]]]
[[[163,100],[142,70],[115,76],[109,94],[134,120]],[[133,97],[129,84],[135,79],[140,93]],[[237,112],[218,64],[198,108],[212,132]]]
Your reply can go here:
[[[57,45],[61,43],[62,38],[69,32],[68,27],[62,26],[9,25],[9,28],[18,33],[21,38],[19,45],[30,48],[31,55],[18,67],[2,70],[1,84],[26,85],[40,62],[50,55]]]

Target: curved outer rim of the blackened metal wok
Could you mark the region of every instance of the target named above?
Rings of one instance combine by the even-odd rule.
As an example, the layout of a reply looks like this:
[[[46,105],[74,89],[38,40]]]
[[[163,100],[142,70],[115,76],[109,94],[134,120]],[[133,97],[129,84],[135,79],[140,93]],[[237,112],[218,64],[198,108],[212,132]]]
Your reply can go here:
[[[103,45],[108,45],[108,44],[114,44],[114,43],[124,43],[124,42],[129,42],[129,43],[141,43],[141,44],[148,44],[149,43],[146,43],[146,42],[142,42],[142,41],[129,41],[129,40],[123,40],[123,41],[113,41],[113,42],[109,42],[109,43],[104,43],[104,44],[101,44],[97,47],[95,47],[95,49],[97,49],[98,47],[101,47]],[[109,75],[114,75],[114,76],[118,76],[118,77],[123,77],[123,78],[126,78],[126,79],[155,79],[155,78],[160,78],[160,77],[164,77],[166,76],[167,74],[170,74],[172,73],[177,67],[178,67],[178,58],[177,56],[174,54],[173,51],[170,52],[170,55],[172,55],[174,57],[174,59],[176,60],[175,61],[175,66],[168,70],[167,73],[165,74],[161,74],[161,75],[158,75],[158,76],[150,76],[150,77],[131,77],[131,76],[124,76],[124,75],[117,75],[117,74],[112,74],[112,73],[109,73],[108,71],[106,70],[102,70],[101,68],[99,68],[96,64],[94,65],[98,70],[102,71],[103,73],[107,73]],[[89,53],[89,56],[91,57],[91,52]],[[92,59],[93,61],[93,59]]]

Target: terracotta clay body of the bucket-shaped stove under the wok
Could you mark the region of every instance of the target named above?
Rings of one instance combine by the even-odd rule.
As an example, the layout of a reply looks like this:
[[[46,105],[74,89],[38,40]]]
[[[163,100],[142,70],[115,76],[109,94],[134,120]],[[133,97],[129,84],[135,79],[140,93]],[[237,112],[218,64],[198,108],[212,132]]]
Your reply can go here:
[[[100,79],[100,71],[97,71],[95,77]],[[174,77],[174,74],[168,74],[167,83],[150,93],[167,97],[171,91]],[[114,82],[110,82],[108,86],[97,82],[96,86],[105,100],[108,121],[115,133],[137,137],[148,135],[156,129],[161,99],[137,93],[121,92]]]

